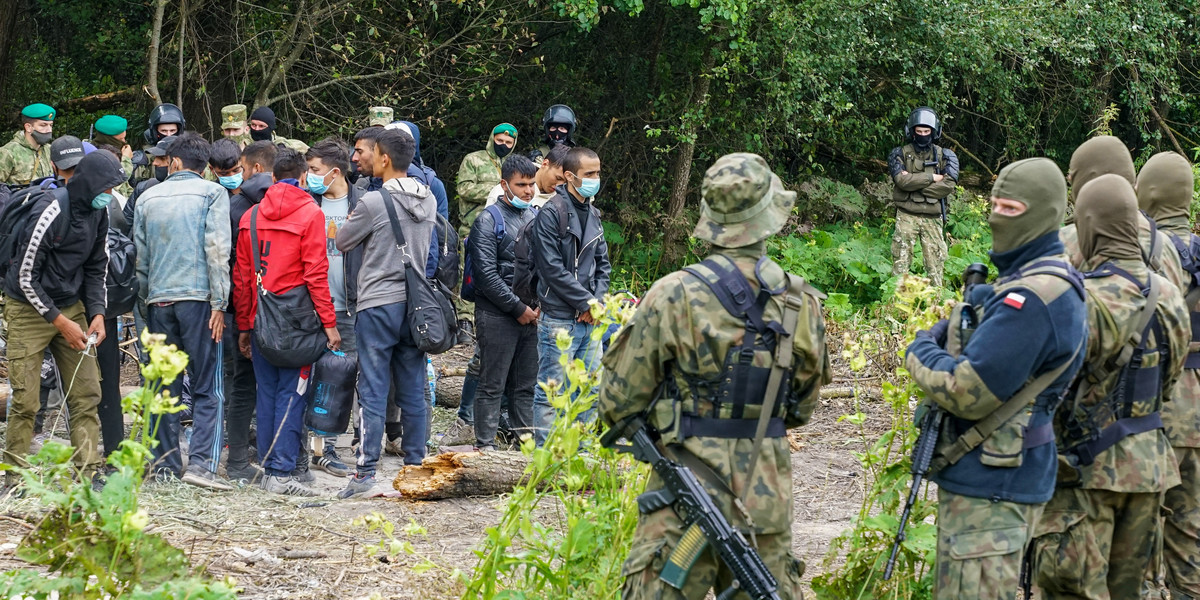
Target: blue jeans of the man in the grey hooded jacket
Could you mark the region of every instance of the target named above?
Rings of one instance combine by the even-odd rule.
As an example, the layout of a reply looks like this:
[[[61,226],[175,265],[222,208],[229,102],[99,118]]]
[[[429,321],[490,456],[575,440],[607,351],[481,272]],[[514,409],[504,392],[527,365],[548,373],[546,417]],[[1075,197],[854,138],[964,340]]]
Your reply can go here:
[[[425,403],[425,353],[408,331],[404,302],[359,311],[354,332],[359,342],[359,444],[358,475],[374,475],[383,446],[388,392],[395,390],[400,422],[404,431],[401,450],[404,464],[420,464],[428,436]]]

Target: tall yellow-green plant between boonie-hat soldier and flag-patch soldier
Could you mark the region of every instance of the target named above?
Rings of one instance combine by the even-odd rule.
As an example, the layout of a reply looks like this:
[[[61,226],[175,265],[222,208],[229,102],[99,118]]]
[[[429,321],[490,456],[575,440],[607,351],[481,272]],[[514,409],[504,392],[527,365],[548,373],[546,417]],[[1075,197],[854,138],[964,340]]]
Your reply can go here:
[[[896,348],[902,353],[920,329],[949,314],[949,302],[942,300],[943,290],[930,288],[918,277],[907,277],[896,289],[892,302],[876,322],[876,326],[847,334],[845,359],[856,372],[868,366],[868,356],[881,349]],[[896,340],[899,346],[895,346]],[[936,502],[923,498],[912,510],[905,530],[892,580],[883,581],[883,568],[892,551],[899,528],[899,515],[908,493],[910,455],[917,440],[912,425],[910,400],[923,397],[919,386],[907,371],[898,368],[890,380],[883,382],[883,402],[892,409],[892,427],[876,437],[860,427],[854,440],[854,452],[871,484],[863,496],[863,504],[851,529],[834,538],[826,556],[827,571],[814,577],[812,589],[818,599],[890,598],[918,600],[931,598],[934,557],[937,550]],[[854,398],[856,407],[859,398]],[[841,418],[862,426],[862,412]],[[845,562],[834,568],[842,557]]]

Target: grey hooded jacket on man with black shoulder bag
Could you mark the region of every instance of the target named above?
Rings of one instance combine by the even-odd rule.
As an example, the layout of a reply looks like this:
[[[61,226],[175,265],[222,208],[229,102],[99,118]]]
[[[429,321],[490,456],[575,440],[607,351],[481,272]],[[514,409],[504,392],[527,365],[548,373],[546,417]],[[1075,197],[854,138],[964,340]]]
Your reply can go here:
[[[384,202],[396,205],[396,217],[404,235],[403,251],[396,247]],[[335,242],[337,250],[347,254],[362,246],[358,312],[407,300],[403,260],[407,258],[418,269],[426,264],[437,222],[437,204],[430,188],[413,178],[392,179],[384,182],[383,190],[362,194],[337,232]]]

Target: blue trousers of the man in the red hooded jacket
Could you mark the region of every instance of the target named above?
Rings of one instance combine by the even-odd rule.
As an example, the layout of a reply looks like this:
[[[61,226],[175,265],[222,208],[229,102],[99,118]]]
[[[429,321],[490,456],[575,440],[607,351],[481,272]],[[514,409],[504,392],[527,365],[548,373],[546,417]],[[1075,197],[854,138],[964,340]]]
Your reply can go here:
[[[268,475],[286,478],[296,468],[304,444],[304,412],[308,408],[312,365],[283,368],[270,364],[251,341],[258,382],[258,458]]]

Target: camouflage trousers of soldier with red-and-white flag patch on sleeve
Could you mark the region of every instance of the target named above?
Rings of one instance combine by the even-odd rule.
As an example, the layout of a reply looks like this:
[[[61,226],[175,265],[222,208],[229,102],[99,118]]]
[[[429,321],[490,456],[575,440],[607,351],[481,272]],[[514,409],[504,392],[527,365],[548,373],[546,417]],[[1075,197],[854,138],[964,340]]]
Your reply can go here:
[[[935,600],[1016,600],[1025,548],[1043,504],[937,491]]]

